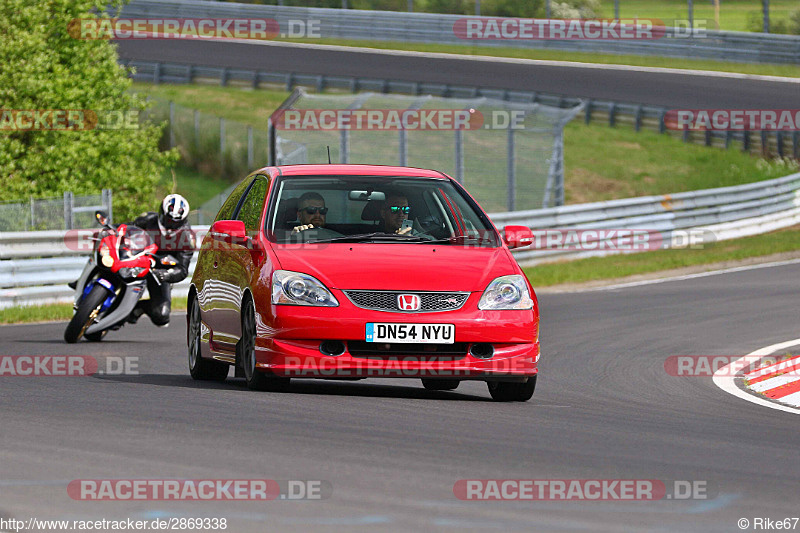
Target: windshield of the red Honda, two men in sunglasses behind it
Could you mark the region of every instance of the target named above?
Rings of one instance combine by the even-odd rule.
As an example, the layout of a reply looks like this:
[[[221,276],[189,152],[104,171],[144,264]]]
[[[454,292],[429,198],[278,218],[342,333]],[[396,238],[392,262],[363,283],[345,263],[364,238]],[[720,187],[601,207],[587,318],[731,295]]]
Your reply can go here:
[[[486,214],[446,179],[283,177],[269,213],[278,243],[499,246]]]

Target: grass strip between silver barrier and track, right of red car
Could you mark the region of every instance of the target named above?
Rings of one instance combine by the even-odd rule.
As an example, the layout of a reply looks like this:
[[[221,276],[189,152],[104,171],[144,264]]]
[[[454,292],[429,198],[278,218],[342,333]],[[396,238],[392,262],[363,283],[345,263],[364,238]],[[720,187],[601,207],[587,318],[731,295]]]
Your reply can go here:
[[[637,254],[590,257],[525,268],[534,288],[584,283],[648,274],[682,267],[738,261],[800,250],[800,226],[764,235],[721,241],[706,248],[659,250]]]

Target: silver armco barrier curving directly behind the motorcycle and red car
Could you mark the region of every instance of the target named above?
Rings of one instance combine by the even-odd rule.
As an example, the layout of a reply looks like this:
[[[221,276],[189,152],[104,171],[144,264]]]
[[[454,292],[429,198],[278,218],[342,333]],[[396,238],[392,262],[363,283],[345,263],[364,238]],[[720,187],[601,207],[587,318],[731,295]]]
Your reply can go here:
[[[800,173],[782,178],[663,196],[645,196],[489,215],[498,228],[638,229],[660,232],[667,246],[687,230],[710,232],[715,240],[766,233],[800,223]],[[195,227],[200,233],[208,226]],[[76,279],[87,254],[65,242],[64,231],[0,233],[0,308],[71,301],[66,283]],[[595,250],[514,251],[521,265],[614,253]],[[191,270],[194,270],[196,255]],[[185,295],[189,282],[177,284]]]

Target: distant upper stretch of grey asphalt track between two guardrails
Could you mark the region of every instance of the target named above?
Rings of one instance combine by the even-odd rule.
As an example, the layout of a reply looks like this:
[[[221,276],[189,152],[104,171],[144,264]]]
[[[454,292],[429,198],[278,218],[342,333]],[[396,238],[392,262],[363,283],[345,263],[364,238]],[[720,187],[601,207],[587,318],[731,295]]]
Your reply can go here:
[[[363,52],[280,42],[117,41],[123,59],[478,86],[676,109],[794,109],[800,84],[759,79]]]

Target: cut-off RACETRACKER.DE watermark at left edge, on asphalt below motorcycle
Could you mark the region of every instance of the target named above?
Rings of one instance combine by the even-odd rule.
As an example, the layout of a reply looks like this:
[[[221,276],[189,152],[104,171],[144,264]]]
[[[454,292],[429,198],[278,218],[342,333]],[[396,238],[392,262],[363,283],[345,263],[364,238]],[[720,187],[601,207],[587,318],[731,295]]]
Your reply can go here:
[[[85,377],[139,374],[138,357],[90,355],[0,355],[0,377]]]

